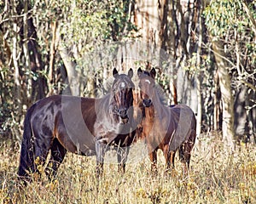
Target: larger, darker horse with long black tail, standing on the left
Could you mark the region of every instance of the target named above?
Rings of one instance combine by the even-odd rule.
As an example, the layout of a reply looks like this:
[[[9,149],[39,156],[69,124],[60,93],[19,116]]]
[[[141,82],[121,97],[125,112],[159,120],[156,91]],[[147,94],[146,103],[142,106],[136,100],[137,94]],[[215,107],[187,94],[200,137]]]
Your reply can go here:
[[[125,171],[132,127],[133,71],[128,75],[113,69],[111,92],[99,99],[55,95],[39,100],[26,112],[20,151],[20,178],[37,171],[38,161],[50,159],[45,173],[55,176],[67,150],[83,156],[96,156],[97,174],[102,173],[104,153],[109,144],[118,151]]]

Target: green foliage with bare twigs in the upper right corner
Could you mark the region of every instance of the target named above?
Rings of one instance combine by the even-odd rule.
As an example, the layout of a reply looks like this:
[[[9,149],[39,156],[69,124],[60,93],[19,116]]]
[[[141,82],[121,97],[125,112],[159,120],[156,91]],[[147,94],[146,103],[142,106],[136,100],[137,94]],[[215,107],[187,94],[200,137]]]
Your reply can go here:
[[[211,1],[203,14],[207,31],[212,41],[218,40],[223,44],[223,56],[227,68],[232,69],[232,80],[241,84],[237,75],[244,81],[252,82],[255,70],[255,31],[249,16],[256,16],[256,1],[247,3],[250,14],[247,14],[245,4],[241,0]],[[236,66],[237,69],[234,69]],[[246,69],[244,69],[247,67]],[[235,84],[235,83],[233,83]],[[237,87],[234,87],[237,89]]]

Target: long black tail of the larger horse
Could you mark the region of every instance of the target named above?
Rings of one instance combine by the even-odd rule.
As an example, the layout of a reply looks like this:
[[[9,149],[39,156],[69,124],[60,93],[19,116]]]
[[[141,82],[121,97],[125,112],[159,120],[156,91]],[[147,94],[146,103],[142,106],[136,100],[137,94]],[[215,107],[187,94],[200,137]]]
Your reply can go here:
[[[18,176],[21,178],[28,177],[28,171],[34,171],[33,138],[31,127],[31,117],[34,109],[35,105],[32,105],[32,107],[26,112],[24,121],[24,132],[20,150],[20,165],[18,170]]]

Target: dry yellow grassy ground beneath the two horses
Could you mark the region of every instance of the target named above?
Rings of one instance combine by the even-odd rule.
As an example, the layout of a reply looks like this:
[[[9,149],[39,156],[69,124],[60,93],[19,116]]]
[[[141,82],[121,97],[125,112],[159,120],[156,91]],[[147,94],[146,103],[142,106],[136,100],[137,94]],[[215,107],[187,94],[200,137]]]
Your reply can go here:
[[[67,154],[54,182],[35,177],[20,187],[19,153],[1,143],[0,203],[256,203],[256,146],[237,145],[229,155],[216,135],[198,139],[188,179],[179,161],[175,171],[164,173],[159,151],[158,175],[151,175],[148,158],[128,164],[124,175],[107,164],[98,189],[95,158],[73,154]]]

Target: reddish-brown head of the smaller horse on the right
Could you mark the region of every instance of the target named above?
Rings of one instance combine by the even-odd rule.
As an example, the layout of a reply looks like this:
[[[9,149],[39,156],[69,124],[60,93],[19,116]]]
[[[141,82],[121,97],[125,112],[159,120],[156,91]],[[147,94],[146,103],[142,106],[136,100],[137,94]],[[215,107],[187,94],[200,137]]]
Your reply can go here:
[[[154,77],[155,69],[152,68],[150,72],[143,71],[141,68],[137,70],[137,76],[139,77],[139,88],[141,90],[140,95],[145,107],[152,105],[152,98],[154,96]]]

